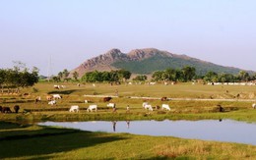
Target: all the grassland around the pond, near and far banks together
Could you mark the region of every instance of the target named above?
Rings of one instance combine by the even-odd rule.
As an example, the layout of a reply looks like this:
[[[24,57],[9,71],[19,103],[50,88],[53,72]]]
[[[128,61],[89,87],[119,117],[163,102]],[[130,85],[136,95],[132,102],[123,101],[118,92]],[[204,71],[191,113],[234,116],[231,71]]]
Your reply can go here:
[[[0,159],[256,159],[256,146],[252,145],[170,136],[91,133],[32,125],[39,121],[153,119],[256,122],[256,110],[251,107],[256,97],[256,86],[96,83],[94,87],[90,83],[81,86],[63,84],[66,88],[54,89],[53,83],[40,82],[34,88],[23,89],[20,94],[0,95],[1,106],[13,109],[18,104],[21,107],[18,114],[0,114]],[[106,107],[106,102],[96,96],[114,96],[116,89],[118,97],[110,101],[117,104],[117,111],[113,113]],[[55,106],[49,106],[45,99],[52,93],[63,96]],[[42,100],[35,104],[37,96]],[[162,96],[171,100],[161,102],[158,98]],[[91,103],[84,103],[85,99]],[[167,103],[171,110],[149,112],[142,108],[144,101],[154,106]],[[75,104],[81,111],[69,113],[70,106]],[[86,112],[90,104],[97,104],[98,112]],[[131,108],[129,113],[126,112],[128,104]],[[222,105],[224,112],[219,112],[217,105]]]

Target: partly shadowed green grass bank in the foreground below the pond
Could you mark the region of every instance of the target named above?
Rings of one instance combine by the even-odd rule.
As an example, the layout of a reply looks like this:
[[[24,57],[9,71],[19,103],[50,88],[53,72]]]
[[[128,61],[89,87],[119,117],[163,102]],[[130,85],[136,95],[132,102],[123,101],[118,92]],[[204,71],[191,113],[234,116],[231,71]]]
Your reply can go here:
[[[2,129],[3,126],[9,128]],[[0,123],[0,159],[255,159],[256,146]]]

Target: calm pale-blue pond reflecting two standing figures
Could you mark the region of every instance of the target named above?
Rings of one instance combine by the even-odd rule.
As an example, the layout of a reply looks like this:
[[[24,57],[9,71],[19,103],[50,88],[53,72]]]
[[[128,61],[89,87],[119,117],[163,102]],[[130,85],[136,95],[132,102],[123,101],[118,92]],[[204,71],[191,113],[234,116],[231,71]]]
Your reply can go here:
[[[164,135],[256,145],[256,124],[232,120],[44,122],[38,125],[91,132]]]

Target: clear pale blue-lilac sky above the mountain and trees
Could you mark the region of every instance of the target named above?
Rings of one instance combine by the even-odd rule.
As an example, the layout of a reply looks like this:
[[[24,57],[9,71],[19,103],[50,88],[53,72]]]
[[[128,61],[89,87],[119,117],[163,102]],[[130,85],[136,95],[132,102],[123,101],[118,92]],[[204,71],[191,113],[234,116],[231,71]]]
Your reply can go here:
[[[0,0],[0,69],[73,70],[118,48],[157,48],[256,71],[255,0]]]

